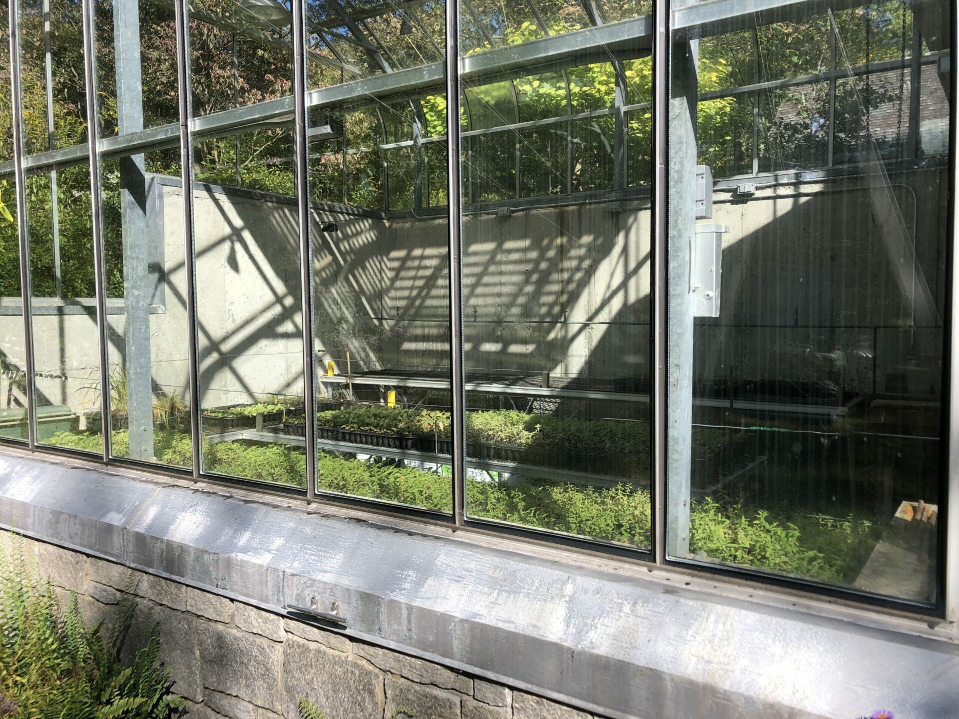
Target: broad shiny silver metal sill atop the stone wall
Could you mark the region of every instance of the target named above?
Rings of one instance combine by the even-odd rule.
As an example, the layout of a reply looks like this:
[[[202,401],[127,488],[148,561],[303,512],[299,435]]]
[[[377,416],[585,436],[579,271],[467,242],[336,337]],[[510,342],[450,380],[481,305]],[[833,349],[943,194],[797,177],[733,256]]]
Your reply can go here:
[[[959,704],[951,625],[317,506],[0,449],[2,526],[603,715]]]

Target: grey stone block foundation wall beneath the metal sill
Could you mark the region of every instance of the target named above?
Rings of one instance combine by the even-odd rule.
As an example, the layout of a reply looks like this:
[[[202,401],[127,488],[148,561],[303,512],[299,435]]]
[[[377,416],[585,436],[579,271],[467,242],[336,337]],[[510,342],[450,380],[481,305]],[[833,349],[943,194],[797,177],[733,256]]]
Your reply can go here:
[[[296,719],[300,697],[326,719],[590,719],[592,714],[486,682],[57,545],[25,539],[40,574],[83,617],[105,625],[138,597],[129,642],[157,622],[161,659],[191,719]],[[409,713],[404,713],[407,710]],[[413,713],[415,712],[415,713]]]

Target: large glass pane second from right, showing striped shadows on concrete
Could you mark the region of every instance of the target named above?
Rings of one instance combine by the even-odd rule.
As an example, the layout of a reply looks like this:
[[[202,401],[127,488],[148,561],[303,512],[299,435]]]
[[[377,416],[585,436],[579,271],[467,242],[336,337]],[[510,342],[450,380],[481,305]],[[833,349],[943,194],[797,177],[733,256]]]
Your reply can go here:
[[[637,12],[634,3],[626,16]],[[573,27],[578,12],[569,17],[563,30],[577,48],[569,66],[526,68],[513,81],[516,101],[501,83],[497,117],[485,116],[491,85],[465,83],[466,509],[474,519],[648,547],[651,214],[635,201],[614,208],[607,193],[618,174],[614,61],[633,73],[631,102],[648,102],[651,77],[635,50],[584,64],[599,48]],[[573,112],[593,116],[563,119],[568,92]],[[561,121],[478,133],[515,122],[514,102],[521,122]],[[648,167],[651,117],[637,109],[627,124],[620,137],[635,136],[645,158],[637,163]],[[573,192],[600,191],[596,199],[568,196],[571,176]],[[476,204],[515,197],[517,185],[522,198],[567,197],[557,206],[503,201],[497,212]]]

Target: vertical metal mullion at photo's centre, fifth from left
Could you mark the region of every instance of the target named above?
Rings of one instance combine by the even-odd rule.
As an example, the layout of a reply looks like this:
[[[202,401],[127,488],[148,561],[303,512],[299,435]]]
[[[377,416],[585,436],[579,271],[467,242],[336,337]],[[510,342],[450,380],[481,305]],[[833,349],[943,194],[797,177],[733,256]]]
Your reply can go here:
[[[466,456],[463,400],[462,213],[459,202],[459,13],[458,0],[446,0],[446,149],[450,252],[450,367],[453,435],[453,518],[466,520]]]

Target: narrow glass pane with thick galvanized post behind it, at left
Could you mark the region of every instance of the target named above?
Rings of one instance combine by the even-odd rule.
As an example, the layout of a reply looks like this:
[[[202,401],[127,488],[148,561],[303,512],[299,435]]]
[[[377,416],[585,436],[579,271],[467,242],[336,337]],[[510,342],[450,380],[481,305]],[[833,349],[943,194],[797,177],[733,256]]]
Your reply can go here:
[[[145,0],[98,3],[94,27],[104,136],[133,141],[144,128],[174,123],[173,10]],[[179,149],[99,161],[112,452],[190,467]]]

